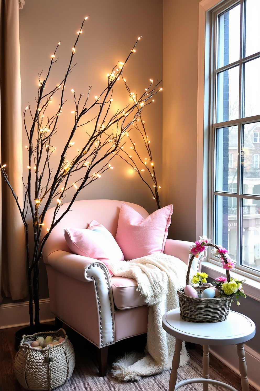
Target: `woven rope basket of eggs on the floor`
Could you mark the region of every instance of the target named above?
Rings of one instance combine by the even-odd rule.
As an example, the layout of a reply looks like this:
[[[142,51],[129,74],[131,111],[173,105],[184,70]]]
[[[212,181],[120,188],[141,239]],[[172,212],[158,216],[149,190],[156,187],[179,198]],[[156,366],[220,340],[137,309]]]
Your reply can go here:
[[[28,341],[37,337],[63,337],[64,341],[44,349],[34,349]],[[49,391],[64,384],[72,375],[75,355],[71,342],[63,330],[57,332],[23,335],[19,351],[14,359],[14,373],[23,388],[33,391]]]

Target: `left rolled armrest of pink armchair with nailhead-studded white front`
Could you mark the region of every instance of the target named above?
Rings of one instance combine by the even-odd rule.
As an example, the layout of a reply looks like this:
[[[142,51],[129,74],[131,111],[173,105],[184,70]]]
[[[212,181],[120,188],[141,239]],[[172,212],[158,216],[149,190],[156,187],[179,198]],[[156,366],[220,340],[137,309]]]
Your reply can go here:
[[[100,335],[96,344],[101,348],[115,343],[114,300],[106,265],[97,259],[61,250],[48,256],[48,264],[70,278],[93,284]]]

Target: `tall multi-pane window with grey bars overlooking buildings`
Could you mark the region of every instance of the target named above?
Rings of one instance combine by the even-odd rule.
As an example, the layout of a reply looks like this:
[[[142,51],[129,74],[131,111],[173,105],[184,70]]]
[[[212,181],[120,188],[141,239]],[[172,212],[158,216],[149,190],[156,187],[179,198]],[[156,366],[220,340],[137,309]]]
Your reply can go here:
[[[260,274],[260,0],[221,7],[212,13],[209,237],[238,269]]]

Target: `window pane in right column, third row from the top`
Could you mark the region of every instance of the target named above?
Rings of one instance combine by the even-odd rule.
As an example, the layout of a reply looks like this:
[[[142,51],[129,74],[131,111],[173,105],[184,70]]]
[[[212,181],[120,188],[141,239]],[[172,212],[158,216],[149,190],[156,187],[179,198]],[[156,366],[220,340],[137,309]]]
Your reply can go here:
[[[244,194],[260,195],[260,122],[244,125],[241,157]]]

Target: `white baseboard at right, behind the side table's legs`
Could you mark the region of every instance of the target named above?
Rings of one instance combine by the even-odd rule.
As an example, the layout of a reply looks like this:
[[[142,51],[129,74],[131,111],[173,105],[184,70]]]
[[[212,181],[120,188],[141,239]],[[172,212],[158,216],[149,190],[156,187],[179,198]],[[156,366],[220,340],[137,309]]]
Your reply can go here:
[[[248,382],[255,389],[260,391],[260,354],[244,345],[246,353],[246,365],[248,368]],[[228,368],[235,373],[239,373],[239,360],[237,356],[237,347],[235,345],[228,346],[211,346],[210,353],[214,355],[219,361],[223,362]]]

